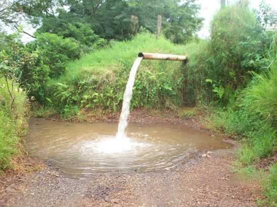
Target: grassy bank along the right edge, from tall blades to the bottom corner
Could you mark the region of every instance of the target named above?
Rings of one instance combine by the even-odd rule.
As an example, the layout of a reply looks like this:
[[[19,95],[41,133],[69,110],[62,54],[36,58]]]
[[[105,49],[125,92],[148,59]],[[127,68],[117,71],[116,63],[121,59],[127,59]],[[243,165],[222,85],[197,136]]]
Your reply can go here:
[[[275,42],[272,43],[275,48]],[[269,171],[256,166],[277,152],[277,52],[270,49],[268,68],[241,90],[226,108],[216,108],[207,118],[208,127],[242,141],[237,152],[238,171],[257,178],[266,200],[261,206],[277,206],[277,163],[269,162]],[[269,159],[270,160],[270,159]]]

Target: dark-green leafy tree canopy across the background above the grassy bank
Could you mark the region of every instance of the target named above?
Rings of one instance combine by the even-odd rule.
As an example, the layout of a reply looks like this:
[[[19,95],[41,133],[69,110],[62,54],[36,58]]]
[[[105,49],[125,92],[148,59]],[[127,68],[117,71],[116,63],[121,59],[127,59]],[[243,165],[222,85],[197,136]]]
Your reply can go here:
[[[108,40],[130,39],[141,27],[155,33],[157,16],[162,15],[164,35],[175,43],[183,43],[191,39],[202,25],[202,19],[197,17],[200,7],[195,0],[18,1],[32,23],[42,25],[38,32],[75,39],[72,31],[80,29],[81,24]],[[69,33],[63,33],[68,29],[71,30]]]

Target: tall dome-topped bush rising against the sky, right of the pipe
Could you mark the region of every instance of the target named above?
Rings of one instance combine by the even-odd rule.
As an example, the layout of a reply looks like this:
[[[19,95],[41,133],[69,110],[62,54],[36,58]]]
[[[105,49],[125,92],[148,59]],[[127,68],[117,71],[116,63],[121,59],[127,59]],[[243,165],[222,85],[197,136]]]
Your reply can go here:
[[[217,65],[215,80],[236,89],[245,84],[252,61],[265,52],[263,30],[249,8],[238,3],[226,7],[214,17],[211,25],[211,55]],[[212,78],[213,79],[213,78]]]

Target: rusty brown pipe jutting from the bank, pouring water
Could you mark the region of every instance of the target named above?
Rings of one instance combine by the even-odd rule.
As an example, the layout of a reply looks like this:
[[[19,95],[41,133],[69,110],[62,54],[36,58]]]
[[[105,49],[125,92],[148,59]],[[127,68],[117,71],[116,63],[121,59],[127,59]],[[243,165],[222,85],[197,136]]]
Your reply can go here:
[[[170,55],[170,54],[140,52],[138,53],[137,56],[143,57],[143,59],[146,59],[146,60],[179,60],[179,61],[184,61],[185,63],[188,61],[188,57],[184,55]]]

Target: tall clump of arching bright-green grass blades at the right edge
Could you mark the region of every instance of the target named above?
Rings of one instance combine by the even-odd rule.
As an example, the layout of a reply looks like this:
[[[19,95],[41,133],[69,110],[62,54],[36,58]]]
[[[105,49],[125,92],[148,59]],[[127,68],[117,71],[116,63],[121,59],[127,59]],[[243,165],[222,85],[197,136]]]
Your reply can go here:
[[[255,126],[248,137],[255,158],[266,157],[277,149],[277,51],[275,39],[267,53],[272,60],[268,69],[261,74],[253,73],[253,80],[242,91],[240,105]],[[255,133],[253,133],[255,132]],[[251,150],[248,150],[251,151]],[[241,157],[245,156],[244,150]]]

